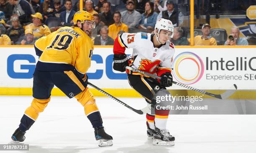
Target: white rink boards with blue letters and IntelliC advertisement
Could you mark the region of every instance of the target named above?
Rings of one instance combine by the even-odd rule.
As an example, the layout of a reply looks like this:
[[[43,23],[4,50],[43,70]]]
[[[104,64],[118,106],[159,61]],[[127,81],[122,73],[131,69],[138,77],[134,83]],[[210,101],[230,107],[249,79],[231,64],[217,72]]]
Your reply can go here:
[[[32,87],[38,61],[33,48],[0,49],[0,87]],[[126,54],[131,54],[127,50]],[[101,88],[130,89],[127,74],[112,69],[113,48],[95,48],[89,81]],[[255,48],[176,48],[174,80],[199,89],[255,89]],[[173,85],[170,89],[184,89]]]

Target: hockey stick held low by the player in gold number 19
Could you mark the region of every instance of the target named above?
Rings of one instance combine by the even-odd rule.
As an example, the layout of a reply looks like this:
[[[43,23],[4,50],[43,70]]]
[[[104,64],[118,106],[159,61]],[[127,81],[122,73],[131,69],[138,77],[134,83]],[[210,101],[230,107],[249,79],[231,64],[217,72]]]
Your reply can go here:
[[[151,106],[148,105],[147,107],[142,108],[141,110],[136,110],[133,107],[125,104],[124,102],[122,102],[121,100],[117,99],[116,97],[113,97],[111,94],[109,94],[108,92],[105,92],[104,90],[100,89],[99,87],[91,84],[90,82],[88,82],[88,84],[92,87],[94,87],[95,89],[99,90],[101,93],[105,94],[106,96],[110,97],[111,99],[114,99],[115,101],[119,102],[120,104],[124,105],[125,107],[129,108],[130,110],[132,110],[133,112],[136,112],[138,114],[146,114],[147,112],[150,112],[151,110]]]

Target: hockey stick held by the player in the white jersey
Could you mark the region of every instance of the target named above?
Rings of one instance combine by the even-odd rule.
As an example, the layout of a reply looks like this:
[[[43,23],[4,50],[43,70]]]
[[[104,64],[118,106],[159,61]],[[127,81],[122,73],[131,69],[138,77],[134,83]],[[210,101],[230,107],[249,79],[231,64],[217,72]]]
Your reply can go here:
[[[161,79],[160,76],[157,76],[157,75],[154,75],[154,74],[150,74],[148,72],[141,71],[141,70],[135,69],[135,68],[130,67],[130,66],[125,66],[125,68],[128,69],[128,70],[131,70],[133,72],[137,72],[137,73],[140,73],[140,74],[144,74],[146,76],[150,76],[150,77],[152,77],[154,79]],[[230,97],[234,92],[236,92],[236,90],[228,90],[228,91],[224,92],[223,94],[212,94],[212,93],[206,92],[204,90],[200,90],[200,89],[197,89],[197,88],[194,88],[194,87],[190,87],[190,86],[188,86],[186,84],[181,84],[181,83],[178,83],[178,82],[175,82],[175,81],[172,81],[172,83],[176,84],[178,86],[190,89],[190,90],[194,90],[196,92],[200,92],[202,94],[207,94],[208,96],[215,97],[215,98],[218,98],[218,99],[226,99],[226,98]],[[234,87],[235,87],[235,89],[237,89],[236,84],[234,84]]]

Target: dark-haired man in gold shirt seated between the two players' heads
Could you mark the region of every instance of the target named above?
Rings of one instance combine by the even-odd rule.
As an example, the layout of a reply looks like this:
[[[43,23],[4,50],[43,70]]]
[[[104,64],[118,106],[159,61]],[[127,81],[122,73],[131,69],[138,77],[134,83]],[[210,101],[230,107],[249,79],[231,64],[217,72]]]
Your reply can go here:
[[[115,23],[108,27],[108,36],[115,40],[120,31],[128,33],[128,26],[121,22],[121,13],[119,11],[114,13],[113,19]]]

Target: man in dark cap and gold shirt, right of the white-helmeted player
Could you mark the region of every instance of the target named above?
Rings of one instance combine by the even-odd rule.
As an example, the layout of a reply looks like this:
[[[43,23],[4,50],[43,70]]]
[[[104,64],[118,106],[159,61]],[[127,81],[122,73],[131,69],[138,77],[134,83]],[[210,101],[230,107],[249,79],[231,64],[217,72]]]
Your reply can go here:
[[[213,38],[210,35],[210,25],[205,23],[202,26],[202,33],[203,35],[200,36],[195,36],[194,38],[194,44],[195,46],[204,46],[204,45],[210,45],[210,46],[215,46],[217,45],[217,42],[215,40],[215,38]],[[188,39],[189,43],[190,43],[190,38]]]

